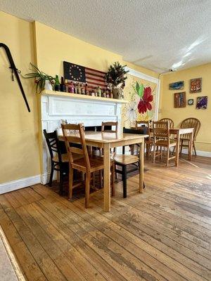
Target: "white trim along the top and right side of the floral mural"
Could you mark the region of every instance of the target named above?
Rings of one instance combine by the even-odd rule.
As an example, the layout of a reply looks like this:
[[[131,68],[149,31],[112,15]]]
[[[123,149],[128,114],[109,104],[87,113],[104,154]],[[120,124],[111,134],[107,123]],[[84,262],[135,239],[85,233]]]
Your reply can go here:
[[[129,71],[128,73],[130,75],[133,75],[135,77],[139,77],[139,78],[141,78],[143,80],[146,80],[146,81],[153,82],[157,85],[157,94],[155,96],[155,121],[157,121],[158,120],[158,112],[159,112],[159,100],[160,100],[160,79],[152,77],[152,76],[147,75],[147,74],[144,74],[143,72],[133,70],[132,68],[129,68],[129,67],[124,67],[124,69],[126,71]]]

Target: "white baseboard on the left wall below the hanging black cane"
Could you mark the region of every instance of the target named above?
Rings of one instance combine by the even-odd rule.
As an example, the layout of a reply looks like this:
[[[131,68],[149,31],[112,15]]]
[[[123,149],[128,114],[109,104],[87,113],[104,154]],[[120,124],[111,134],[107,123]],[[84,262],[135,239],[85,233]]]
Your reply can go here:
[[[0,194],[17,190],[20,188],[27,188],[27,186],[40,183],[40,175],[30,176],[29,178],[20,178],[16,181],[9,181],[7,183],[0,184]]]

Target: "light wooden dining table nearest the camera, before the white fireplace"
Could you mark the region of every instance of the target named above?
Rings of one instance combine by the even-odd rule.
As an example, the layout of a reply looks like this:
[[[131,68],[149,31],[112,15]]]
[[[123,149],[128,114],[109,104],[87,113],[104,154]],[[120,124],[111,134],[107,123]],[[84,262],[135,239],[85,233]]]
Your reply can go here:
[[[77,136],[76,133],[70,132],[70,136]],[[139,159],[139,192],[143,193],[143,159],[144,159],[144,138],[148,135],[136,133],[106,133],[95,131],[84,131],[84,137],[87,145],[96,148],[103,148],[103,186],[104,186],[104,211],[110,211],[110,148],[117,148],[124,145],[140,145]],[[58,134],[60,141],[64,141],[63,135]]]

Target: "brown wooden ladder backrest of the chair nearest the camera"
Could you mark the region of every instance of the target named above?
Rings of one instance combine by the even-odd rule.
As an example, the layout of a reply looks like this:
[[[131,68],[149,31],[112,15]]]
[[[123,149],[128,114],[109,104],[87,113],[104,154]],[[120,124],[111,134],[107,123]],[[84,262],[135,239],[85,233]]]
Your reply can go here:
[[[75,164],[75,155],[84,158],[84,164],[87,169],[90,169],[89,155],[87,152],[87,146],[84,138],[84,128],[82,124],[62,124],[63,136],[65,138],[65,145],[68,152],[68,159],[73,168],[77,168]],[[71,132],[71,131],[74,131]],[[77,144],[79,147],[72,145]],[[79,145],[78,145],[79,144]]]

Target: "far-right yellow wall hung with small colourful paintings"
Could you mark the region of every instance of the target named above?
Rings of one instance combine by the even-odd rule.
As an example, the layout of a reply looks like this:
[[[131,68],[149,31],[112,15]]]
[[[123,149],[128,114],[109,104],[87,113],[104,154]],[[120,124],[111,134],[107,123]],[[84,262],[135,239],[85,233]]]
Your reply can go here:
[[[202,77],[201,93],[189,93],[190,79]],[[176,126],[188,117],[198,118],[201,122],[201,128],[198,133],[196,149],[211,152],[211,63],[191,67],[187,70],[181,70],[165,74],[162,77],[162,87],[160,96],[160,118],[170,117],[174,120]],[[169,90],[169,84],[176,81],[184,81],[184,90],[186,91],[186,100],[194,99],[194,105],[186,105],[184,108],[174,108],[174,93],[179,91]],[[208,96],[207,110],[196,109],[196,98],[198,96]]]

